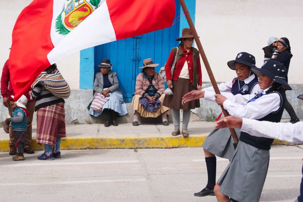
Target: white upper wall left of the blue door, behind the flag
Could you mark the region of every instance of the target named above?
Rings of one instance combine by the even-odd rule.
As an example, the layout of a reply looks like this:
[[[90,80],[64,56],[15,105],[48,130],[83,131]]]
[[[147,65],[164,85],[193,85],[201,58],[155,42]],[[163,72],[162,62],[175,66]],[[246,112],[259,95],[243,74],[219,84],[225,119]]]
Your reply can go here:
[[[0,74],[2,74],[2,67],[9,56],[8,48],[12,45],[12,30],[18,15],[31,2],[32,0],[1,1]],[[70,85],[70,88],[79,89],[80,52],[71,54],[58,61],[57,66]]]

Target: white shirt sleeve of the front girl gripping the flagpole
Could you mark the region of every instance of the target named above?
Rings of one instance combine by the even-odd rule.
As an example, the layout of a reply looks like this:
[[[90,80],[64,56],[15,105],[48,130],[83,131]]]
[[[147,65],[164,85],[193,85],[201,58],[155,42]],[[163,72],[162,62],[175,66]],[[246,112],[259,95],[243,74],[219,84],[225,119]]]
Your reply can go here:
[[[224,101],[223,107],[232,116],[240,118],[259,119],[265,117],[271,112],[277,111],[280,108],[280,102],[281,101],[279,94],[271,93],[263,95],[255,101],[249,102],[245,105],[237,104],[237,100],[236,102],[232,102],[230,99],[227,99]]]

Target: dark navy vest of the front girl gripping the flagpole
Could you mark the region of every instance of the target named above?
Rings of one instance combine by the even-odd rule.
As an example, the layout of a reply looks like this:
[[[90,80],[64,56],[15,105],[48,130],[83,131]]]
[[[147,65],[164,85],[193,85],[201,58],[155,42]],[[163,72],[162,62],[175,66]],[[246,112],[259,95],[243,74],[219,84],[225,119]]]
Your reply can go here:
[[[263,118],[258,119],[258,121],[270,121],[270,122],[280,122],[282,118],[282,114],[284,111],[284,105],[286,100],[286,94],[284,90],[277,90],[271,93],[278,93],[280,96],[280,108],[277,111],[271,112],[270,114],[266,115]],[[269,93],[269,94],[271,94]],[[263,95],[266,96],[267,94]],[[247,144],[250,144],[254,147],[257,147],[259,149],[265,149],[270,150],[270,145],[274,141],[272,138],[266,138],[266,137],[255,137],[248,133],[242,132],[240,133],[240,138],[242,142],[245,142]]]

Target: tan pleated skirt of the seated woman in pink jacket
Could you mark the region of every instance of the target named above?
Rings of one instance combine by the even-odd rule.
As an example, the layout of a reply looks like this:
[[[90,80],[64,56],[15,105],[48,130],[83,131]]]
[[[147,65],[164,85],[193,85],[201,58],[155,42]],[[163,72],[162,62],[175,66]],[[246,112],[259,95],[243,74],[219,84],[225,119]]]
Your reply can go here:
[[[159,100],[161,101],[161,107],[157,108],[156,111],[146,111],[144,106],[139,102],[139,98],[141,98],[142,96],[136,94],[132,99],[132,107],[134,109],[134,113],[135,113],[135,111],[138,111],[141,116],[152,117],[152,118],[158,117],[160,114],[162,114],[165,111],[167,111],[167,115],[168,115],[169,108],[163,106],[163,104],[162,104],[162,102],[166,96],[167,95],[165,95],[164,93],[160,96]]]

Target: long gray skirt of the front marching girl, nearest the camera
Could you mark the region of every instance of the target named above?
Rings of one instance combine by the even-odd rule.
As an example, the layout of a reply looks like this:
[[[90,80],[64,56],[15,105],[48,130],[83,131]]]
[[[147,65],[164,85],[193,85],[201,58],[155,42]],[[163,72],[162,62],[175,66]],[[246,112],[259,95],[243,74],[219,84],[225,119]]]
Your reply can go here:
[[[220,193],[241,202],[257,202],[265,182],[269,150],[239,141],[235,154],[217,181]]]

